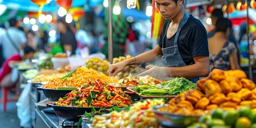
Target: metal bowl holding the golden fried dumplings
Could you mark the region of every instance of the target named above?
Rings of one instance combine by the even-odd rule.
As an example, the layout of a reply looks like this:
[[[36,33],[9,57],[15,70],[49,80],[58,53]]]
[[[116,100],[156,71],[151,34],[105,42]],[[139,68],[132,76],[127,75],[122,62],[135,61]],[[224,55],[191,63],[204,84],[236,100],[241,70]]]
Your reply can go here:
[[[177,115],[158,111],[158,108],[166,106],[155,106],[152,110],[155,113],[156,119],[163,127],[187,127],[190,124],[198,122],[200,116]]]

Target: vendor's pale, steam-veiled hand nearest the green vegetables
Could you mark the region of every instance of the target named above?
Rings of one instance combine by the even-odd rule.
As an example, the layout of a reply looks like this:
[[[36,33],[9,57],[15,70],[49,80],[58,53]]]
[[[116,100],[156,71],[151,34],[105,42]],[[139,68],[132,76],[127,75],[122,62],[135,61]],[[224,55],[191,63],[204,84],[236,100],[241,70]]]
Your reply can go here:
[[[146,66],[146,71],[144,71],[143,73],[141,73],[139,75],[136,75],[135,77],[146,76],[146,75],[149,75],[153,78],[158,78],[158,79],[167,76],[163,67],[157,67],[157,66],[154,66],[154,65],[149,65],[149,66]]]

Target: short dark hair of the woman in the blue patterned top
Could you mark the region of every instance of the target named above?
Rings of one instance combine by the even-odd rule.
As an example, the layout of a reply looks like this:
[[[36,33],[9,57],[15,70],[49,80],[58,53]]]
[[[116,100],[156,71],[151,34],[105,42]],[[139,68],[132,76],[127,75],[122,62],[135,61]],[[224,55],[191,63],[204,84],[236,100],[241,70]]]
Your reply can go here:
[[[216,22],[216,32],[221,31],[226,33],[227,28],[232,28],[232,23],[227,18],[219,18]]]

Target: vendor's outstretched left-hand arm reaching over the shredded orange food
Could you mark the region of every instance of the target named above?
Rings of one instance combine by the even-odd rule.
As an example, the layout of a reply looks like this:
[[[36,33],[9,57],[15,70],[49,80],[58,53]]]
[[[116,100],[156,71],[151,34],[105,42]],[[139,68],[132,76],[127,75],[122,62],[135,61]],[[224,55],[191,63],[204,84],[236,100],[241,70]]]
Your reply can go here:
[[[162,54],[162,49],[159,45],[156,45],[156,47],[153,50],[149,50],[147,52],[141,53],[137,55],[136,57],[115,63],[110,66],[108,70],[109,76],[115,76],[120,71],[123,71],[125,66],[127,65],[140,65],[142,63],[146,63],[148,61],[154,60],[158,55]]]

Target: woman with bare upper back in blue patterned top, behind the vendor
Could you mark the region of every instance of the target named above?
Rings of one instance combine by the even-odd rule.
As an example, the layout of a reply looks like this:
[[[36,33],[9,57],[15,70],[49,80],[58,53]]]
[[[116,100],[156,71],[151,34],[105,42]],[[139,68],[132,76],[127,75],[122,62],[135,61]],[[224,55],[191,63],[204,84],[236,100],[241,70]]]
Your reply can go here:
[[[210,69],[240,69],[235,43],[228,40],[232,28],[231,21],[227,18],[219,18],[215,27],[215,34],[208,39]]]

